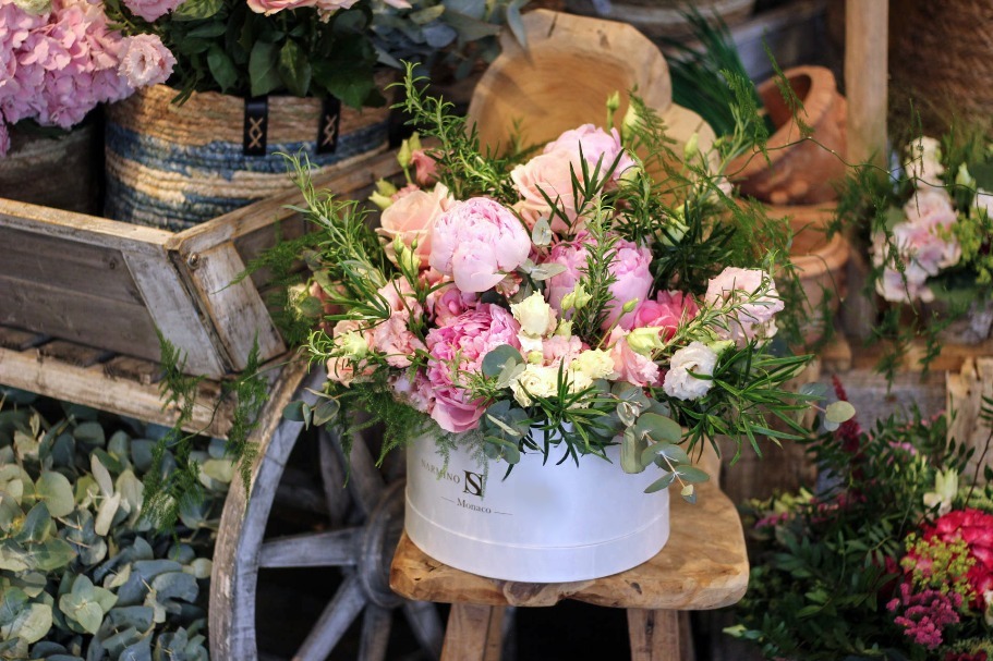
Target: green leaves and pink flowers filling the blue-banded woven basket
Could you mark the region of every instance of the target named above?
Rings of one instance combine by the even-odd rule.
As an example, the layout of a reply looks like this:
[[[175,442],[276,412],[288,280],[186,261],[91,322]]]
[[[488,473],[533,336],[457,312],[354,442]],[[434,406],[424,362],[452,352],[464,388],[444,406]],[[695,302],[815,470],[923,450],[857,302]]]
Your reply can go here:
[[[169,84],[241,97],[336,97],[382,106],[379,64],[441,60],[468,74],[493,59],[502,23],[517,27],[523,0],[108,0],[126,34],[161,38],[178,62]],[[467,49],[472,45],[472,48]],[[471,53],[468,51],[472,50]],[[443,52],[444,51],[444,52]]]

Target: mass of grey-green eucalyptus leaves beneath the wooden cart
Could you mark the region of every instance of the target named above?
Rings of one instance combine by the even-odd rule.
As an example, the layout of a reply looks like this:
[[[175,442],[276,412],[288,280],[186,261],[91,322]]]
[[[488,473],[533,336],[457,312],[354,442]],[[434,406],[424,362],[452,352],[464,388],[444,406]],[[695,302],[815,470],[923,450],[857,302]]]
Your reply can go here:
[[[206,498],[158,533],[142,511],[156,436],[0,391],[0,659],[208,658],[205,588],[234,468],[222,441],[204,441],[191,460]],[[160,470],[174,467],[166,450]]]

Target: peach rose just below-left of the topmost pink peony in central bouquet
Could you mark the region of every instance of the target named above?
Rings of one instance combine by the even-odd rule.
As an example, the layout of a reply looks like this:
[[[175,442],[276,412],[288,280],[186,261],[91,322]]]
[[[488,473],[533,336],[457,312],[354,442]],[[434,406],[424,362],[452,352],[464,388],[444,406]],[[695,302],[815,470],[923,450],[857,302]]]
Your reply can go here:
[[[549,221],[552,231],[557,234],[576,233],[576,197],[572,189],[572,170],[582,176],[582,170],[574,163],[568,151],[553,151],[536,156],[526,163],[517,166],[510,171],[510,179],[520,193],[521,201],[514,210],[521,215],[528,227],[533,228],[540,218]],[[552,206],[545,196],[558,207],[552,216]],[[562,219],[565,213],[568,222]]]

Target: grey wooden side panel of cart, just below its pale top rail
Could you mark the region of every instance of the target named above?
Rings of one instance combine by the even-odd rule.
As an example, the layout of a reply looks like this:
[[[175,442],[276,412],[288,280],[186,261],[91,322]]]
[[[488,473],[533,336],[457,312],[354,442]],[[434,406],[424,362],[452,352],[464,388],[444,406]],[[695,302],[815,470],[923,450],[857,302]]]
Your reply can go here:
[[[4,276],[104,298],[141,303],[119,249],[0,227]]]

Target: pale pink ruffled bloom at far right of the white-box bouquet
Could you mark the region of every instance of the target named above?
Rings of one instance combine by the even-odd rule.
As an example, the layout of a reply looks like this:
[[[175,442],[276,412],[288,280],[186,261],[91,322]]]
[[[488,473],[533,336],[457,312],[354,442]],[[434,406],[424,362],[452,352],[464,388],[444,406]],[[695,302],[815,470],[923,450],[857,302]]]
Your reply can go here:
[[[760,291],[762,293],[754,301],[742,303]],[[718,336],[734,340],[738,346],[744,346],[751,340],[775,335],[777,329],[773,317],[785,307],[768,273],[736,267],[727,267],[707,283],[704,299],[715,306],[723,306],[726,302],[739,303],[736,311],[727,319],[727,328],[713,329]]]

